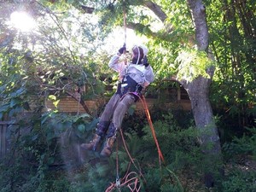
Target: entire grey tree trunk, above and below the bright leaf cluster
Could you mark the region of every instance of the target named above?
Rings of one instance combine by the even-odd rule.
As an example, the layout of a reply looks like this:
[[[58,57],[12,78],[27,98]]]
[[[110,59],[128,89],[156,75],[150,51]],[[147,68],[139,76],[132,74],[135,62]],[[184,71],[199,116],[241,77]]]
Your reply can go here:
[[[199,50],[208,51],[208,28],[206,8],[201,0],[187,0],[195,24],[195,40]],[[205,184],[212,187],[214,173],[219,170],[221,162],[221,147],[215,125],[212,107],[209,101],[209,89],[214,73],[214,68],[209,67],[207,73],[211,79],[198,77],[192,82],[181,82],[187,90],[191,101],[195,125],[200,131],[199,141],[205,154]]]

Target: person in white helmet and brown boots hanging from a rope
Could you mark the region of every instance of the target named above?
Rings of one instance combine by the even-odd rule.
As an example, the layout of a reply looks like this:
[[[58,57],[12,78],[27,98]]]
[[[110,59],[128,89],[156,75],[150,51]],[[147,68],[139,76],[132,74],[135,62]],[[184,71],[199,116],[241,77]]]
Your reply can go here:
[[[97,144],[106,137],[102,156],[110,156],[116,133],[119,131],[127,109],[137,102],[141,91],[154,80],[153,69],[147,59],[148,48],[144,45],[136,45],[131,50],[131,62],[119,62],[119,57],[125,54],[125,51],[124,44],[108,63],[108,67],[119,73],[118,89],[106,105],[93,139],[90,143],[81,144],[81,148],[96,150]]]

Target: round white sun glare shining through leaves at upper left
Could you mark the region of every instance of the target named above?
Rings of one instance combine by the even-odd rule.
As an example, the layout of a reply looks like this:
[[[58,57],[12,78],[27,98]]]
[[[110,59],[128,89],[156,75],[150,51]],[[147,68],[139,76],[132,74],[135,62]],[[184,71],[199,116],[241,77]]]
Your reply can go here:
[[[15,11],[10,15],[10,23],[21,32],[29,32],[36,26],[36,21],[26,12]]]

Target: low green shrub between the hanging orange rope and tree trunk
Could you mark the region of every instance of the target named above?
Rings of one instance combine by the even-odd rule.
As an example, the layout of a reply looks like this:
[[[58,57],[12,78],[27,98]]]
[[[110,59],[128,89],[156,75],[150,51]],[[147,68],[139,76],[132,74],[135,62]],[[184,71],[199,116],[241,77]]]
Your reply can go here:
[[[161,150],[168,161],[172,162],[172,169],[182,169],[195,165],[201,159],[200,147],[197,141],[197,131],[193,127],[183,129],[177,125],[172,113],[163,115],[163,119],[154,123],[154,130],[160,143]],[[154,148],[154,140],[148,126],[143,129],[147,134],[143,140]]]

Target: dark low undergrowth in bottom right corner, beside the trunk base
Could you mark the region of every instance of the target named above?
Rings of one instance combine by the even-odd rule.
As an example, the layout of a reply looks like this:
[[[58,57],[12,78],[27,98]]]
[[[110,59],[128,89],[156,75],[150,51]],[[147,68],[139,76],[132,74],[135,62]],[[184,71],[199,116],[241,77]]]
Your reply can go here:
[[[230,143],[224,143],[223,152],[226,160],[226,176],[221,181],[222,191],[254,191],[255,185],[255,128],[247,134],[235,137]]]

